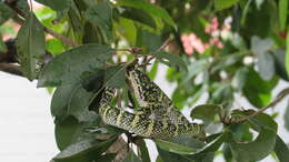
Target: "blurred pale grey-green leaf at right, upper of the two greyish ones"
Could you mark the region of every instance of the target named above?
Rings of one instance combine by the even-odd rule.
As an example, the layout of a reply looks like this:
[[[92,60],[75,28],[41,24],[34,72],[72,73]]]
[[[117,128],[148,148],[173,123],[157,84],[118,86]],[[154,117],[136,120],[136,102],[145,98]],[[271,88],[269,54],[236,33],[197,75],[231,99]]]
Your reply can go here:
[[[273,41],[271,39],[260,39],[257,36],[251,38],[251,51],[253,54],[263,54],[272,48]]]

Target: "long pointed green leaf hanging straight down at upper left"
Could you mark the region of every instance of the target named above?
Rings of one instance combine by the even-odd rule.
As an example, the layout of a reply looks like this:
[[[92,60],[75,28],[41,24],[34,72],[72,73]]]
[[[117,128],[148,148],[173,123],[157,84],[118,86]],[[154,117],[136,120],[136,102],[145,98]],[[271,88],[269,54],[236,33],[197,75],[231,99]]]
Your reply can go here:
[[[34,80],[39,59],[46,54],[46,41],[43,27],[32,12],[18,32],[17,52],[21,71],[29,80]]]

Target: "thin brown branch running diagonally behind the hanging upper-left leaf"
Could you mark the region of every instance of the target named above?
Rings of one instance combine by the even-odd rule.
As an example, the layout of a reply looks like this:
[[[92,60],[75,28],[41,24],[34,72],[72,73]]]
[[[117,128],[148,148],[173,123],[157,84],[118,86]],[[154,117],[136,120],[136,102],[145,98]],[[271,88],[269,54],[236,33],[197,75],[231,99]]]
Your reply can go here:
[[[23,18],[27,18],[27,13],[23,12],[22,10],[20,10],[17,4],[16,4],[16,0],[6,0],[6,3],[13,10],[16,11],[19,16],[23,17]],[[13,19],[17,23],[20,23],[22,24],[23,23],[23,20],[21,18],[18,18],[16,17]],[[53,36],[54,38],[61,40],[64,44],[67,45],[70,45],[70,47],[77,47],[78,44],[76,42],[73,42],[72,40],[70,40],[69,38],[64,37],[64,36],[61,36],[57,32],[54,32],[53,30],[47,28],[47,27],[43,27],[44,28],[44,31],[51,36]]]

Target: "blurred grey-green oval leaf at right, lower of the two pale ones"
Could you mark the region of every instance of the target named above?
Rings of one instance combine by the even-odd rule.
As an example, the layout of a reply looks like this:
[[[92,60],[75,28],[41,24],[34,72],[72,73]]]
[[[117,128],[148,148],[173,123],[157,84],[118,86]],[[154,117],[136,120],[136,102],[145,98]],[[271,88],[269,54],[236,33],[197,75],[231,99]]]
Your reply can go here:
[[[269,52],[258,54],[257,67],[263,80],[271,80],[275,75],[273,57]]]

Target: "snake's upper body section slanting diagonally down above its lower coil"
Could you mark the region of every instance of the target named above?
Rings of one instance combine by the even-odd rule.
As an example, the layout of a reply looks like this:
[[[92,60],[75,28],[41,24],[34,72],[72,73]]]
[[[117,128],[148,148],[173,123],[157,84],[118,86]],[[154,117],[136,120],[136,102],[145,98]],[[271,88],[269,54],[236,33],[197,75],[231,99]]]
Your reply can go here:
[[[156,113],[161,119],[167,118],[172,123],[189,123],[166,93],[136,65],[127,69],[127,78],[130,91],[136,95],[140,107],[151,111],[148,114]]]

